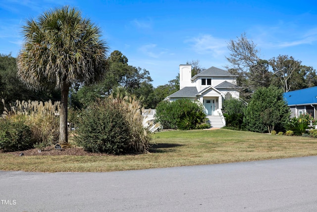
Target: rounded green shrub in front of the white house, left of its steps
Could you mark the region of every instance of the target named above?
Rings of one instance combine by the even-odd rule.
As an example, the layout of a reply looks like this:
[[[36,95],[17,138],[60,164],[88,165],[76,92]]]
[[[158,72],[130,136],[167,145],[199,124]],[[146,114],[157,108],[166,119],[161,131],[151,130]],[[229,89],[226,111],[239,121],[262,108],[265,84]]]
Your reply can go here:
[[[202,104],[189,99],[160,102],[156,108],[156,122],[165,129],[193,130],[210,128]]]

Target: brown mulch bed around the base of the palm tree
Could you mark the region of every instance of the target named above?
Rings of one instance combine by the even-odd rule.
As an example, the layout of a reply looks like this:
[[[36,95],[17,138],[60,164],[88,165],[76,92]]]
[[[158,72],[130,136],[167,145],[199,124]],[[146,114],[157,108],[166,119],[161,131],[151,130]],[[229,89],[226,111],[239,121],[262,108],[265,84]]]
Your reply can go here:
[[[28,149],[24,151],[12,151],[12,152],[2,152],[2,154],[13,154],[19,156],[21,153],[25,156],[30,155],[92,155],[92,156],[100,156],[100,155],[107,155],[104,153],[91,153],[84,151],[81,147],[68,147],[68,148],[62,148],[61,150],[57,150],[54,148],[54,146],[48,146],[44,148],[43,150],[39,151],[39,149],[33,148]]]

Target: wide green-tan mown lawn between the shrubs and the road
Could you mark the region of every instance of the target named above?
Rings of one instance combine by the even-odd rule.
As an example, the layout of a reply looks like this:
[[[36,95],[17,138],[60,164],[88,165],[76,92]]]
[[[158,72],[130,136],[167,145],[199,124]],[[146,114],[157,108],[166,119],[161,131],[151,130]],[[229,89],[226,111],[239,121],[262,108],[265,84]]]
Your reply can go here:
[[[142,155],[0,153],[0,170],[106,172],[317,155],[317,139],[295,136],[219,129],[159,132],[153,137],[150,153]]]

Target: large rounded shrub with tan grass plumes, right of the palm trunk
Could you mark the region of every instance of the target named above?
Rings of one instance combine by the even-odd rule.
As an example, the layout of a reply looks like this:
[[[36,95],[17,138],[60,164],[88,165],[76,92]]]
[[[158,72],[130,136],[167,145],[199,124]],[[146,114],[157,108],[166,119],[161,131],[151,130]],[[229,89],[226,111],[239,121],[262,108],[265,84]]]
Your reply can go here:
[[[151,136],[142,120],[140,103],[133,98],[99,100],[82,111],[75,141],[90,152],[145,153]]]

